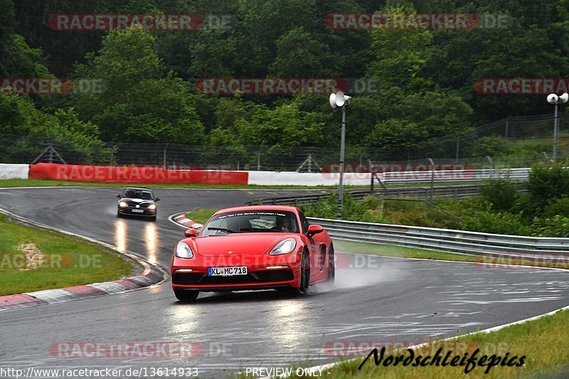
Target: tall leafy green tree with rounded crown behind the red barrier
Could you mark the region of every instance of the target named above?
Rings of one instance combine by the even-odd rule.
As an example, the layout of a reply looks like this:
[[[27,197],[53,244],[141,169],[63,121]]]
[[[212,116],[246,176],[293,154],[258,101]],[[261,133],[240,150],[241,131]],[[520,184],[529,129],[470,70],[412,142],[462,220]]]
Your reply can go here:
[[[83,119],[100,126],[110,141],[201,144],[203,124],[188,84],[164,73],[156,36],[142,28],[112,31],[99,55],[78,66],[78,77],[105,82],[100,94],[78,96]]]

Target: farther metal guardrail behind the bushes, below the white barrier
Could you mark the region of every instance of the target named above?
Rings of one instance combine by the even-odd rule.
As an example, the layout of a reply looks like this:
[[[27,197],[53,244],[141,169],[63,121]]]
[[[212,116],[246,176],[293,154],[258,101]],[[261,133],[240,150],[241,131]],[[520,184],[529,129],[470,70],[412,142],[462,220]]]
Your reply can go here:
[[[525,189],[524,183],[514,183],[515,186],[523,191]],[[466,196],[478,195],[481,184],[461,184],[457,186],[435,186],[432,188],[433,196],[439,198],[462,198]],[[398,187],[398,188],[384,188],[378,191],[350,191],[353,199],[363,199],[371,194],[375,196],[408,196],[417,198],[428,198],[430,196],[430,187]],[[272,204],[272,205],[308,205],[318,203],[321,199],[327,198],[329,193],[322,193],[318,195],[308,196],[295,196],[285,198],[262,198],[255,201],[250,201],[247,205],[253,204]]]

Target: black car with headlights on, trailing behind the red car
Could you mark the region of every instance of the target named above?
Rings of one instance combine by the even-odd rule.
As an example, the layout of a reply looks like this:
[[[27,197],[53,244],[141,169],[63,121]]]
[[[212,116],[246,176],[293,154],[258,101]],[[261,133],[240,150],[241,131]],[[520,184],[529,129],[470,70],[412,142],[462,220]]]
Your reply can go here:
[[[127,187],[121,194],[117,195],[117,217],[122,215],[142,216],[156,220],[158,206],[154,193],[148,188]]]

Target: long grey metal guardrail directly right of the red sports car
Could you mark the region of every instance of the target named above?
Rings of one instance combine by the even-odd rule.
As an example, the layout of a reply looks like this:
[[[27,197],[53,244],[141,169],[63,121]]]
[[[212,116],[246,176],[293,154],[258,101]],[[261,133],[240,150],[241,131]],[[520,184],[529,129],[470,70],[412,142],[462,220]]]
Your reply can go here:
[[[331,237],[354,242],[415,247],[462,254],[569,254],[568,238],[525,237],[422,228],[418,226],[361,223],[357,221],[309,218],[322,225]]]

